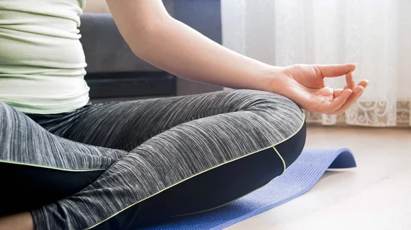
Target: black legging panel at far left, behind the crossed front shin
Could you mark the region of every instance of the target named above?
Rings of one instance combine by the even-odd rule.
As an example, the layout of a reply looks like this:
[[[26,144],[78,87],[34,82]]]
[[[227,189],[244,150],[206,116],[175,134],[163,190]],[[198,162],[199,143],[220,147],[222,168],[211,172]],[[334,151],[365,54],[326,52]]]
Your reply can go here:
[[[101,171],[61,171],[0,162],[0,216],[27,212],[79,192]]]

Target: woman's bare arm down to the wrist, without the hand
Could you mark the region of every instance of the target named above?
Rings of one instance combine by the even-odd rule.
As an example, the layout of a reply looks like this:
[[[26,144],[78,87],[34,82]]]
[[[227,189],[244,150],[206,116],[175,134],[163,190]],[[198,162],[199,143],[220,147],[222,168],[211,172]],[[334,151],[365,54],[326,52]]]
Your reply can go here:
[[[107,0],[132,51],[162,70],[211,85],[269,91],[277,68],[217,44],[175,20],[160,0]]]

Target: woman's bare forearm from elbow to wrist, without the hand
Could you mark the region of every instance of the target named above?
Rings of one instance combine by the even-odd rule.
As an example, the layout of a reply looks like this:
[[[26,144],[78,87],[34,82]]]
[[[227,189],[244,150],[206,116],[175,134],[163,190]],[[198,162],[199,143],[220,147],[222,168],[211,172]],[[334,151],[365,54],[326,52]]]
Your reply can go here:
[[[176,76],[235,89],[268,90],[277,68],[231,51],[173,18],[129,41],[134,53]]]

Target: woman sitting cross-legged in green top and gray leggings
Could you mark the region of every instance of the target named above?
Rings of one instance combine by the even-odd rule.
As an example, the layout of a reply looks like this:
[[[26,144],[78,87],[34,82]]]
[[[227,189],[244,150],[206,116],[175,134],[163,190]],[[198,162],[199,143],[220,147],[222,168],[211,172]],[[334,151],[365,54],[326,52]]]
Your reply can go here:
[[[355,64],[276,67],[234,53],[160,0],[107,0],[138,57],[233,90],[90,104],[84,1],[0,1],[1,230],[136,229],[220,207],[297,159],[301,109],[344,113],[368,85],[353,81]],[[344,89],[325,87],[344,75]]]

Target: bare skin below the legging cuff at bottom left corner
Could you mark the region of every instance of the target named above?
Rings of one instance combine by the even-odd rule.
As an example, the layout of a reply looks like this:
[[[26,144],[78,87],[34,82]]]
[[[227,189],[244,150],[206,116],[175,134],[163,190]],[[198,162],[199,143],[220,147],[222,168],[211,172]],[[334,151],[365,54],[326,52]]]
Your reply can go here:
[[[32,214],[23,212],[11,216],[0,216],[0,230],[34,230]]]

